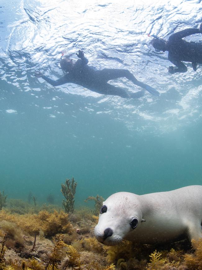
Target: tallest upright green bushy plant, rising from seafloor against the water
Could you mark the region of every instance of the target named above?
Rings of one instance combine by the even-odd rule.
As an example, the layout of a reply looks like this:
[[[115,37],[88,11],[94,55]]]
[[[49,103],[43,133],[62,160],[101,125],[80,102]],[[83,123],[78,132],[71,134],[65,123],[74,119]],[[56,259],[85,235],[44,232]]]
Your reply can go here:
[[[62,195],[66,198],[66,200],[62,201],[66,213],[74,212],[76,186],[77,182],[74,180],[74,178],[71,178],[71,180],[66,179],[65,184],[61,184]]]

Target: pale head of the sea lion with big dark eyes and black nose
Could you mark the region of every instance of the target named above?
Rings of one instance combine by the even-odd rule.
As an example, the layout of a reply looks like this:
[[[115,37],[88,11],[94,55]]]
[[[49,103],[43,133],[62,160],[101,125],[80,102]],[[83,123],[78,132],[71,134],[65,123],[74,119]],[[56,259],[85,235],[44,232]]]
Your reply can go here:
[[[105,245],[116,245],[144,221],[137,195],[130,192],[112,194],[100,209],[94,233]]]

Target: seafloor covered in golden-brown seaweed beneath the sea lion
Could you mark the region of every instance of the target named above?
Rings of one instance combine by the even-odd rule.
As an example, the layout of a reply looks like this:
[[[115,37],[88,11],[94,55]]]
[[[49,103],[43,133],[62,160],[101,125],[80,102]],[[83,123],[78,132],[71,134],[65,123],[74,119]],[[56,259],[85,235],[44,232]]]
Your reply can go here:
[[[104,246],[93,236],[89,208],[66,214],[53,204],[11,199],[0,211],[0,269],[202,269],[202,239],[166,246],[124,241]]]

